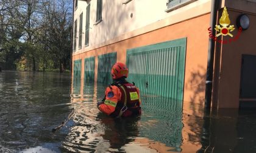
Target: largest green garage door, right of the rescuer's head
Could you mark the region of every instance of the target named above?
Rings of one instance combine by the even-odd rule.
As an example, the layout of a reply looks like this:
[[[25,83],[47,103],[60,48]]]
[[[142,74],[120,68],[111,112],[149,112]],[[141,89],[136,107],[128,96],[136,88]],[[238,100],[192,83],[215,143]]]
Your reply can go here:
[[[183,100],[187,38],[127,50],[128,80],[142,95]]]

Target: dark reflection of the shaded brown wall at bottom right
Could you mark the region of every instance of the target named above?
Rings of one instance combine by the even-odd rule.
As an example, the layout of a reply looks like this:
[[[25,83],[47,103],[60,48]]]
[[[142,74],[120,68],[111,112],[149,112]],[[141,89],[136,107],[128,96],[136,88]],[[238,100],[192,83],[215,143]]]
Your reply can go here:
[[[198,152],[256,152],[255,110],[219,109],[203,118]]]

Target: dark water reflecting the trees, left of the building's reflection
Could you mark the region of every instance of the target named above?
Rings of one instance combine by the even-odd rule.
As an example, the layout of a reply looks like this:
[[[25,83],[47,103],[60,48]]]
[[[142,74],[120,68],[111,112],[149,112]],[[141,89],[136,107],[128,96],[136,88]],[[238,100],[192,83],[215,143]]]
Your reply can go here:
[[[68,75],[1,72],[0,84],[0,152],[57,150],[66,133],[50,131],[69,111]]]

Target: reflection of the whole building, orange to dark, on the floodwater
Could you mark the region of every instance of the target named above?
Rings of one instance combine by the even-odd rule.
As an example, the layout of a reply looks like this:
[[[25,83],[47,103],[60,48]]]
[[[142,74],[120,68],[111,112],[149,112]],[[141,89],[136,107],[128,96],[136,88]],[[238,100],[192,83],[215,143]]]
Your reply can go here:
[[[115,120],[96,107],[106,86],[98,83],[81,87],[85,95],[72,101],[77,106],[76,125],[69,133],[73,136],[68,137],[68,141],[79,143],[64,148],[99,152],[256,152],[255,110],[204,112],[201,104],[143,95],[141,117]]]

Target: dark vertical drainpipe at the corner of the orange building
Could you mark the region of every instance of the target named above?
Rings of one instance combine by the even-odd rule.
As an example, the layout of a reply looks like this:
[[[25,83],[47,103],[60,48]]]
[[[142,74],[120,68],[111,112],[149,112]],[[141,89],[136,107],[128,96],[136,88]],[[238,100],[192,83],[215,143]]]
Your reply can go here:
[[[216,33],[215,24],[216,24],[218,7],[219,7],[219,0],[212,0],[210,26],[211,26],[213,35],[215,35]],[[206,82],[205,82],[205,103],[204,103],[204,107],[207,110],[210,110],[211,101],[212,101],[214,51],[215,51],[215,41],[214,39],[209,38],[207,72],[206,72]]]

